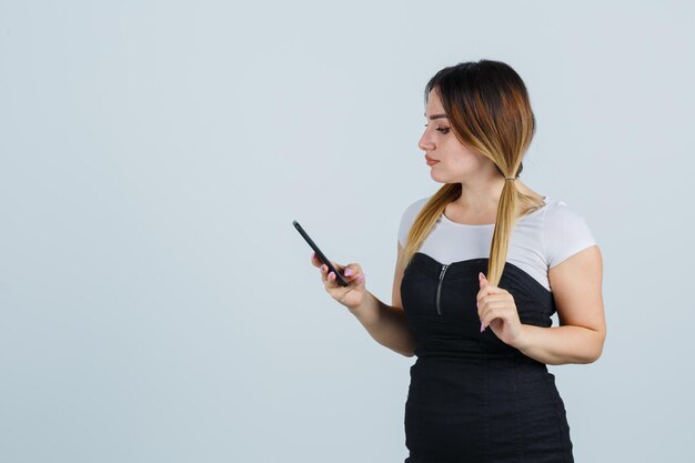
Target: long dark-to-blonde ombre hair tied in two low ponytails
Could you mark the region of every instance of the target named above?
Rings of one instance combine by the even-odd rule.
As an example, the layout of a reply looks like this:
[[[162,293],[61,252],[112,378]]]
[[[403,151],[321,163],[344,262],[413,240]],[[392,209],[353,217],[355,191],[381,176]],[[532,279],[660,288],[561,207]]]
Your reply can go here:
[[[535,133],[528,92],[518,74],[500,61],[462,62],[442,69],[430,79],[425,87],[425,105],[430,91],[435,89],[456,139],[494,162],[504,178],[518,177]],[[406,265],[446,204],[461,193],[461,183],[446,183],[422,208],[407,233],[403,250]],[[542,205],[543,202],[518,191],[515,182],[504,182],[490,249],[486,275],[490,284],[498,285],[502,278],[510,236],[518,219],[516,211],[527,214]]]

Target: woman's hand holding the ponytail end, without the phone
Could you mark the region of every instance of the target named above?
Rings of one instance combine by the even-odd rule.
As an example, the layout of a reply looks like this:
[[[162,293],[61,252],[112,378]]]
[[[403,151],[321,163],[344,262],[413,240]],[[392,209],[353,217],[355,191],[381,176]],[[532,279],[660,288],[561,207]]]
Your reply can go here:
[[[522,323],[514,303],[514,296],[502,288],[494,286],[481,272],[481,290],[477,300],[477,316],[481,319],[481,333],[490,326],[492,332],[505,344],[516,346],[522,336]]]

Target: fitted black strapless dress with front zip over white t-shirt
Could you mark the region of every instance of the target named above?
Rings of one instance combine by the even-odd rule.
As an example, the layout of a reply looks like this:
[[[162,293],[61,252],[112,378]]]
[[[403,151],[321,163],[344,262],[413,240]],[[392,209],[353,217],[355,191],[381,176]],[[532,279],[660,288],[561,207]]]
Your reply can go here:
[[[544,363],[480,332],[477,274],[487,259],[442,264],[417,252],[401,284],[414,333],[405,403],[405,463],[573,463],[555,376]],[[552,293],[506,262],[500,288],[514,296],[524,324],[551,326]]]

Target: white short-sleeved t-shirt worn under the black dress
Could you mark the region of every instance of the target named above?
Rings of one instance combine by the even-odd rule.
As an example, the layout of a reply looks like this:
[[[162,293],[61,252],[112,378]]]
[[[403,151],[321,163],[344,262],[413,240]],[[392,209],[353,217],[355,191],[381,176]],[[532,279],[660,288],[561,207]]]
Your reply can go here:
[[[401,217],[399,242],[405,245],[407,232],[430,197],[409,205]],[[466,225],[444,213],[420,248],[441,263],[490,258],[494,223]],[[524,270],[552,291],[547,270],[596,244],[584,218],[563,201],[545,197],[545,205],[518,219],[512,230],[506,261]]]

